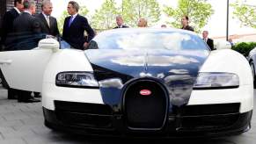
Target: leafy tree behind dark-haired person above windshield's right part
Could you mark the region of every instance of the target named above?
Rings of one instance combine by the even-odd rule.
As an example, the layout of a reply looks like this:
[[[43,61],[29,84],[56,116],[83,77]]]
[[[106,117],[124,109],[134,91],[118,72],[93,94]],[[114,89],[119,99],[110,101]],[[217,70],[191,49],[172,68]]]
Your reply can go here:
[[[200,32],[204,25],[207,25],[208,18],[214,13],[211,4],[208,4],[206,0],[179,0],[178,7],[176,9],[165,6],[165,14],[173,18],[172,22],[169,22],[172,26],[180,28],[180,19],[183,16],[188,16],[190,25],[194,27],[195,32]]]

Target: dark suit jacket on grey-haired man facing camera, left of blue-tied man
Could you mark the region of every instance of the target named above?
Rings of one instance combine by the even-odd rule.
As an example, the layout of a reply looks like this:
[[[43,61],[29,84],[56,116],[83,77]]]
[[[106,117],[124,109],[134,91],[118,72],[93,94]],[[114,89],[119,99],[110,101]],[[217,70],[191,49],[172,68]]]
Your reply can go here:
[[[36,18],[39,19],[41,32],[53,36],[58,36],[60,34],[56,18],[50,16],[50,27],[48,26],[48,22],[42,13],[38,14]]]

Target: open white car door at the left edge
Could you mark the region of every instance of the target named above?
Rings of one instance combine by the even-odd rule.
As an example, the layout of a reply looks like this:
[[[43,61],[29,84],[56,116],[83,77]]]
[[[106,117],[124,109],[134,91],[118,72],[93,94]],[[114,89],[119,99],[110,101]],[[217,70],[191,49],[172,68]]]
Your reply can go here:
[[[0,68],[9,87],[41,91],[42,77],[53,54],[51,49],[0,52]]]

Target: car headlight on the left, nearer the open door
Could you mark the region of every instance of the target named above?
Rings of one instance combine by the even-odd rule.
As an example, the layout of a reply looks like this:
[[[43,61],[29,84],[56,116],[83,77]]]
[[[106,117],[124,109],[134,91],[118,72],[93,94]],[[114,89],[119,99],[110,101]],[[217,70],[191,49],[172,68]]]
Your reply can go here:
[[[91,72],[61,72],[56,76],[56,85],[76,88],[99,88]]]

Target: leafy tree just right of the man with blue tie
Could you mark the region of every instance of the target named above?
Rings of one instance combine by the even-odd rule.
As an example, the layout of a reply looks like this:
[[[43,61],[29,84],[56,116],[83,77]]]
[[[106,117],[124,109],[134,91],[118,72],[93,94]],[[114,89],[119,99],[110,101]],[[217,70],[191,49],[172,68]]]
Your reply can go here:
[[[91,26],[98,30],[112,29],[115,24],[115,17],[118,14],[114,0],[105,0],[99,10],[91,18]]]

